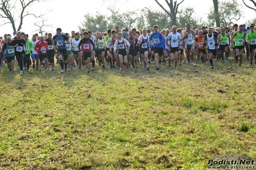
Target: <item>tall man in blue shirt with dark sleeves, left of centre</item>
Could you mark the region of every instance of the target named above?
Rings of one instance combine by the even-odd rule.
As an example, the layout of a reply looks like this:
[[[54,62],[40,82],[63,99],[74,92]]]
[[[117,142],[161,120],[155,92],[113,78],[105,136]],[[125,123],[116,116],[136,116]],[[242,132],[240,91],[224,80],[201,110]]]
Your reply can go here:
[[[62,29],[58,27],[56,29],[57,35],[53,36],[52,44],[55,44],[58,46],[58,61],[60,63],[60,66],[62,68],[61,73],[64,73],[64,63],[65,63],[65,69],[67,70],[67,50],[65,47],[65,44],[69,44],[69,38],[65,35],[62,35]],[[53,49],[55,50],[55,46],[53,46]]]

